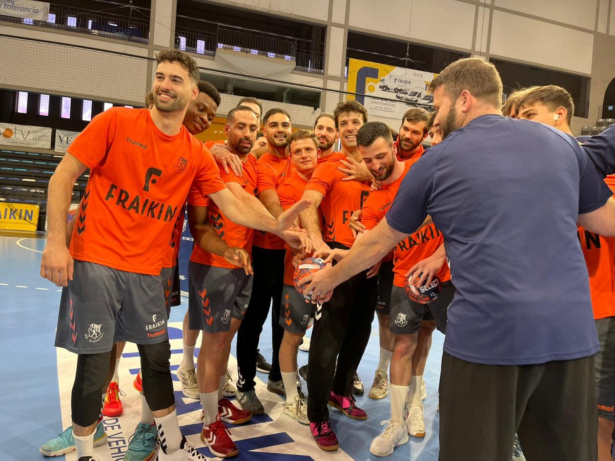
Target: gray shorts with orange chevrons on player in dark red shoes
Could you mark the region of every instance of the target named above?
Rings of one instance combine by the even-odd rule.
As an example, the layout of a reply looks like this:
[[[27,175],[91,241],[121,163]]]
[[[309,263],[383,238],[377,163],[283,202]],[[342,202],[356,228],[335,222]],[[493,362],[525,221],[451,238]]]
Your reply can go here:
[[[231,329],[231,317],[244,319],[252,293],[252,275],[244,269],[188,263],[190,329],[219,333]]]

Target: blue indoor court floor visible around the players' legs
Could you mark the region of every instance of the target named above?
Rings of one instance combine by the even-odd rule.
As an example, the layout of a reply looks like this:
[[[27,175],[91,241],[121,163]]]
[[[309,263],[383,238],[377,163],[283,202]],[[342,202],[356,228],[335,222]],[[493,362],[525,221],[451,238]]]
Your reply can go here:
[[[0,327],[0,347],[4,351],[3,374],[0,380],[0,408],[4,410],[0,412],[0,443],[3,447],[0,459],[6,461],[44,459],[39,454],[39,446],[55,437],[63,428],[60,398],[63,399],[64,406],[69,402],[69,393],[63,392],[62,396],[60,395],[58,354],[54,348],[60,293],[55,285],[39,276],[40,252],[44,245],[43,239],[0,236],[0,312],[4,320]],[[186,309],[186,302],[174,308],[170,323],[181,322]],[[178,334],[177,331],[180,330],[175,331]],[[268,358],[271,358],[271,343],[268,341],[270,331],[271,326],[266,322],[260,347],[261,353]],[[181,339],[178,337],[176,341],[181,347]],[[424,401],[424,416],[427,436],[424,439],[410,438],[410,443],[397,447],[394,454],[387,459],[437,460],[436,406],[442,344],[443,336],[435,332],[425,371],[427,399]],[[172,349],[177,349],[173,343]],[[233,345],[233,355],[234,350]],[[130,360],[130,353],[124,357],[127,357],[126,361]],[[307,360],[308,354],[300,352],[299,364],[304,364]],[[375,321],[370,344],[359,367],[359,374],[365,384],[365,396],[357,399],[357,404],[368,412],[369,419],[364,422],[354,421],[341,416],[336,410],[331,411],[331,421],[340,441],[341,450],[338,452],[316,451],[314,455],[309,437],[299,441],[296,437],[297,431],[305,431],[306,428],[295,422],[284,423],[284,420],[280,420],[281,422],[274,422],[277,424],[277,433],[271,436],[263,435],[262,431],[259,436],[250,436],[249,425],[232,429],[233,436],[240,439],[237,443],[240,454],[234,459],[376,459],[370,454],[369,445],[371,439],[383,429],[380,422],[389,419],[389,398],[376,401],[367,396],[377,364],[378,325]],[[136,372],[135,370],[130,371]],[[257,375],[260,380],[266,382],[265,374]],[[69,379],[72,382],[73,376],[69,376]],[[132,394],[131,396],[135,398]],[[185,419],[180,417],[183,433],[186,436],[197,434],[200,430],[197,420],[197,413],[200,413],[199,404],[196,401],[182,401],[181,393],[176,392],[176,396],[178,409],[188,413],[183,415]],[[282,401],[280,400],[280,405],[276,402],[274,400],[273,404],[276,405],[276,414],[279,415]],[[140,411],[140,407],[135,408],[131,407],[132,411]],[[135,417],[127,416],[128,412],[126,409],[125,415],[119,419],[120,422],[125,418]],[[192,417],[190,412],[194,412],[195,416]],[[186,419],[189,420],[186,422]],[[129,420],[126,421],[128,424]],[[269,414],[255,420],[255,424],[267,421],[272,421]],[[301,436],[304,436],[303,432]],[[197,435],[194,437],[198,440]],[[308,445],[305,445],[306,443]],[[276,446],[280,448],[277,449]],[[312,455],[306,455],[305,447],[310,449]],[[69,459],[74,459],[74,454],[69,456]],[[113,459],[121,460],[121,457]]]

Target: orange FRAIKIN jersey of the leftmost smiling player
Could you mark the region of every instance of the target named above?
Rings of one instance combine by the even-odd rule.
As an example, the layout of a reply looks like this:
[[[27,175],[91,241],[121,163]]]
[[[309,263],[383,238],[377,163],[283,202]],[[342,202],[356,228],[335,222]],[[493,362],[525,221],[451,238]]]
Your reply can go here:
[[[74,259],[158,275],[191,184],[224,189],[212,154],[185,127],[161,132],[148,109],[111,108],[68,148],[90,168],[70,251]]]

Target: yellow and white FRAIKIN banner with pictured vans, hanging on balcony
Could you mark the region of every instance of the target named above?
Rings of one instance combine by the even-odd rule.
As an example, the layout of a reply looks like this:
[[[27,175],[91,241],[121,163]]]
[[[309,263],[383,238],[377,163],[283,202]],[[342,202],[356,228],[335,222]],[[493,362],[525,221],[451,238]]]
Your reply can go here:
[[[434,97],[427,88],[435,76],[431,72],[351,59],[348,91],[357,96],[348,98],[363,104],[370,115],[400,119],[410,107],[431,110]]]

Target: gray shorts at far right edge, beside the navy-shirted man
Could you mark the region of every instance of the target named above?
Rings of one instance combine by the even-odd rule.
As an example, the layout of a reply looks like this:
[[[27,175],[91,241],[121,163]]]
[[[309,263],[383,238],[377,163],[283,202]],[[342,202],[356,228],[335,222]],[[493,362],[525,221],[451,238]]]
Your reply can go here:
[[[596,320],[600,350],[596,354],[598,416],[615,420],[615,317]]]

